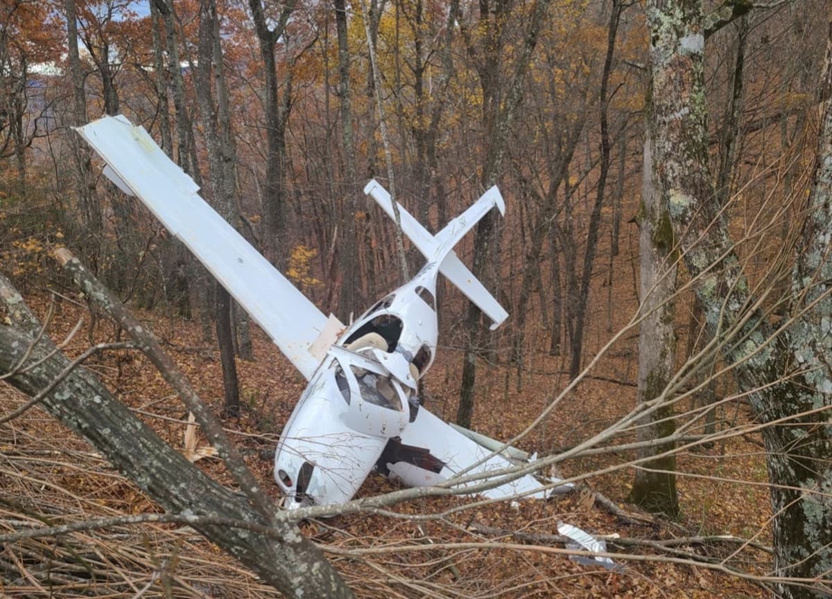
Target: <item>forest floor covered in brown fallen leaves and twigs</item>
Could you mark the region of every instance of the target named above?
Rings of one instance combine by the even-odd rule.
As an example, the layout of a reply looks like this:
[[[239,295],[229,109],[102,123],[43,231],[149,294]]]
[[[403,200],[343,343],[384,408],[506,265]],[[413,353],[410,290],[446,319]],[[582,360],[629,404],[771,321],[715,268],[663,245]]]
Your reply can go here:
[[[38,315],[46,312],[46,294],[35,294],[29,302]],[[210,342],[203,341],[198,323],[158,312],[139,315],[163,341],[202,399],[219,413],[219,354]],[[626,314],[620,317],[626,318]],[[86,349],[91,340],[115,340],[114,325],[102,321],[89,332],[86,308],[65,300],[57,303],[49,334],[60,340],[81,318],[85,324],[67,346],[69,355]],[[242,415],[239,420],[225,420],[225,426],[244,450],[263,488],[277,499],[271,462],[275,442],[305,381],[259,329],[253,328],[253,333],[255,361],[238,361]],[[598,331],[590,338],[593,335],[603,337]],[[625,335],[624,341],[608,351],[593,369],[591,375],[595,378],[587,378],[565,395],[545,425],[518,446],[543,455],[566,449],[631,410],[635,401],[635,345],[635,335]],[[448,420],[456,414],[461,358],[453,347],[441,347],[427,377],[431,396],[428,408]],[[534,353],[530,362],[519,378],[514,366],[481,362],[473,428],[496,439],[511,438],[567,385],[562,356],[541,351]],[[121,357],[106,355],[88,361],[87,367],[163,438],[175,447],[183,446],[186,410],[142,356],[135,352]],[[21,401],[17,392],[0,386],[0,413]],[[744,422],[749,414],[745,405],[730,403],[721,411],[721,419]],[[205,444],[201,439],[200,445]],[[575,459],[562,464],[562,474],[596,472],[632,457],[621,453]],[[765,552],[730,543],[685,543],[672,547],[676,553],[649,546],[650,542],[672,538],[726,534],[770,544],[764,457],[758,439],[747,436],[681,452],[681,517],[672,520],[650,518],[626,505],[633,471],[619,468],[593,475],[587,484],[632,514],[630,520],[604,508],[592,493],[582,491],[548,501],[511,504],[422,499],[395,508],[402,518],[359,513],[305,523],[303,529],[324,550],[332,548],[330,557],[359,597],[765,597],[767,592],[760,584],[717,569],[726,565],[751,575],[765,575],[770,569],[770,556]],[[220,482],[231,484],[218,460],[206,458],[198,464]],[[392,484],[371,475],[359,495],[392,489]],[[55,522],[158,511],[84,441],[39,409],[0,426],[0,497],[0,526],[6,530],[26,519],[32,525],[42,522],[45,514],[51,514],[49,521]],[[423,513],[441,516],[428,521],[409,518]],[[563,554],[562,545],[552,543],[550,538],[557,534],[559,522],[592,534],[617,534],[630,539],[630,545],[611,543],[609,550],[631,557],[616,558],[624,566],[617,572],[572,562]],[[638,541],[644,543],[632,544]],[[433,547],[426,550],[426,544]],[[85,578],[86,591],[89,585],[99,585],[103,596],[277,596],[192,531],[172,525],[118,528],[77,533],[62,540],[0,545],[0,569],[5,569],[2,579],[9,580],[8,573],[15,568],[22,573],[15,584],[0,588],[0,594],[86,596],[82,595],[82,582],[68,575],[65,579],[56,575],[49,585],[42,578],[26,575],[27,568],[34,572],[33,556],[38,552],[54,557],[60,564],[63,562],[58,557],[63,556],[66,562],[67,556],[81,551],[79,547],[84,547],[87,564],[95,565],[86,566],[89,571],[98,572]],[[368,548],[378,552],[349,555],[350,551]],[[668,561],[671,557],[677,562]],[[709,565],[708,560],[716,565]],[[157,577],[153,572],[162,575]],[[149,586],[141,592],[146,584]]]

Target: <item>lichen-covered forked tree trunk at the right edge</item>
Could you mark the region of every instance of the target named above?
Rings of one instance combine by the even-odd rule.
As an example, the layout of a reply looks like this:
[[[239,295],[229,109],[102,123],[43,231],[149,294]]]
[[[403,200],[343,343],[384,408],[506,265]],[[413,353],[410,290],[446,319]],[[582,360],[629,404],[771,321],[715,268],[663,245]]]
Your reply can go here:
[[[813,410],[832,405],[827,342],[832,298],[825,292],[825,282],[832,279],[832,110],[827,102],[803,247],[796,254],[793,292],[798,305],[790,312],[790,327],[778,335],[754,308],[707,168],[703,57],[706,33],[713,27],[706,26],[699,0],[652,0],[647,17],[654,160],[663,167],[656,183],[686,268],[691,277],[699,277],[696,294],[707,330],[734,366],[758,422],[789,419],[763,430],[775,514],[775,574],[801,582],[822,580],[832,570],[832,432]],[[828,53],[827,89],[830,58]],[[784,373],[790,373],[788,378]],[[788,580],[774,587],[786,599],[820,595]]]

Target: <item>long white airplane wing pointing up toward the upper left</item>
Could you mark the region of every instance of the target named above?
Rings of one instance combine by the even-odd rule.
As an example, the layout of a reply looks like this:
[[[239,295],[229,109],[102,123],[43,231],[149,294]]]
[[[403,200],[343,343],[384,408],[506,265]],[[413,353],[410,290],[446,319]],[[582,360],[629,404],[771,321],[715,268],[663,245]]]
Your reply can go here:
[[[104,174],[136,195],[203,263],[307,380],[344,327],[324,316],[196,192],[199,187],[123,115],[76,129],[106,162]],[[323,350],[323,351],[321,351]]]

